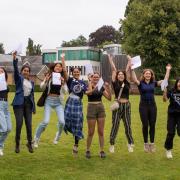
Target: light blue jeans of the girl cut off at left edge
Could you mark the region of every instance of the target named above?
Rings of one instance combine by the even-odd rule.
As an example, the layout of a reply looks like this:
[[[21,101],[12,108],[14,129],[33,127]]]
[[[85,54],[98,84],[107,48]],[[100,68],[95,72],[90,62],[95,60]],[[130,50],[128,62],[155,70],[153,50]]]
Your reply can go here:
[[[4,141],[11,129],[12,125],[8,102],[0,101],[0,148],[4,147]]]

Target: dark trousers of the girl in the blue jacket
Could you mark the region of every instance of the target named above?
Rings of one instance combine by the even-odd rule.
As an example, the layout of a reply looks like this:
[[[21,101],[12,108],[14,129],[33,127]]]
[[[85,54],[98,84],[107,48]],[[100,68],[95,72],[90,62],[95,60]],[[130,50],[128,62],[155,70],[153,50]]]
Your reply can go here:
[[[21,129],[23,125],[23,117],[26,124],[26,133],[28,143],[32,142],[32,103],[30,99],[25,99],[22,106],[13,107],[15,118],[16,118],[16,145],[20,144]]]

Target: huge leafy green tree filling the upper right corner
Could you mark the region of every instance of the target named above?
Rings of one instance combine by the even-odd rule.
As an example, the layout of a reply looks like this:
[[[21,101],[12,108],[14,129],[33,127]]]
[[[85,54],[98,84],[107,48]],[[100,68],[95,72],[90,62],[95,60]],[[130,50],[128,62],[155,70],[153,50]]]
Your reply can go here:
[[[133,0],[124,20],[122,48],[145,59],[144,67],[151,67],[163,78],[165,65],[171,63],[172,74],[180,71],[180,3],[179,0]]]

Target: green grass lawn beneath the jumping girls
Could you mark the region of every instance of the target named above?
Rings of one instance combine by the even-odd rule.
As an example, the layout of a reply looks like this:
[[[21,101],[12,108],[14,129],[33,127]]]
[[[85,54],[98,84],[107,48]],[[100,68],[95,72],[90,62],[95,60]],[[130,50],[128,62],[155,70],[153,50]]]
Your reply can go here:
[[[13,93],[10,93],[9,103],[12,101]],[[36,93],[36,100],[40,93]],[[111,129],[110,102],[104,99],[106,107],[105,125],[105,151],[106,159],[99,157],[98,136],[95,133],[91,151],[92,158],[85,158],[87,123],[84,119],[85,139],[80,141],[78,157],[73,157],[72,146],[74,140],[72,135],[63,133],[60,142],[53,144],[56,133],[57,117],[53,112],[50,123],[41,136],[39,148],[30,154],[25,146],[26,131],[23,125],[21,135],[21,152],[14,152],[15,119],[11,110],[13,129],[10,133],[4,149],[4,156],[0,157],[0,179],[133,179],[133,180],[175,180],[180,179],[180,141],[178,136],[174,140],[174,158],[167,160],[165,157],[164,141],[166,137],[166,118],[168,103],[162,102],[162,97],[157,96],[158,117],[156,126],[156,147],[154,154],[144,153],[143,138],[141,133],[141,122],[138,113],[139,96],[131,96],[132,109],[132,131],[135,140],[133,153],[127,151],[127,140],[124,133],[123,123],[120,124],[119,133],[116,140],[115,153],[110,154],[109,134]],[[86,117],[87,97],[83,99],[84,117]],[[36,115],[33,116],[34,131],[43,118],[43,108],[37,108]]]

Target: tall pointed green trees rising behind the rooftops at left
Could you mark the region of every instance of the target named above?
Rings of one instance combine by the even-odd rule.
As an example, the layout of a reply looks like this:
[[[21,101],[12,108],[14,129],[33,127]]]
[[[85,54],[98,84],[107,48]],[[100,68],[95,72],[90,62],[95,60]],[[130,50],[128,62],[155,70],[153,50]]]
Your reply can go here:
[[[28,39],[28,46],[26,47],[26,56],[36,56],[41,55],[42,45],[34,45],[34,42],[31,38]]]

